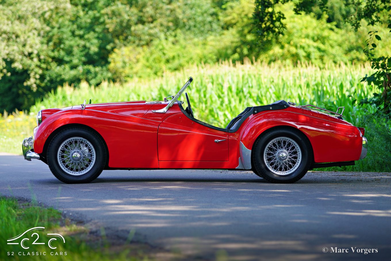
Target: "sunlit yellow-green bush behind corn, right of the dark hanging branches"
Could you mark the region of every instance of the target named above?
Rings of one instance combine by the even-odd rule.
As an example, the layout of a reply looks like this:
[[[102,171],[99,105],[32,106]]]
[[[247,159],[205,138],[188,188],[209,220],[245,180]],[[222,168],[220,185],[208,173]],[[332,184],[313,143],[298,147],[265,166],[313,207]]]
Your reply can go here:
[[[317,20],[313,15],[297,16],[292,9],[292,5],[280,8],[286,16],[285,33],[271,40],[273,44],[260,55],[261,60],[311,62],[322,66],[366,59],[362,52],[365,42],[353,30],[336,28],[325,17]]]

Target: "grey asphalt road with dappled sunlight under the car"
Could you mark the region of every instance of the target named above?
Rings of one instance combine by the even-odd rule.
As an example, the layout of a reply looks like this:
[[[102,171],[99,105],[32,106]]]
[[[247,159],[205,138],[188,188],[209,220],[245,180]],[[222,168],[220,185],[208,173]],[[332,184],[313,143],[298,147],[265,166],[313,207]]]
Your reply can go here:
[[[0,156],[1,194],[205,259],[389,260],[390,181],[391,173],[309,172],[296,184],[269,184],[248,171],[124,170],[70,185],[38,160]]]

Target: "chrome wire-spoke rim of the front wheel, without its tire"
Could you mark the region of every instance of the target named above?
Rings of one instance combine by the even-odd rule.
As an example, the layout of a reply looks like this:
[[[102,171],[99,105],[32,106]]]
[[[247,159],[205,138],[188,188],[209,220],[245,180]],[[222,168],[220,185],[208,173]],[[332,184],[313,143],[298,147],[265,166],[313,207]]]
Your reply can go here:
[[[79,176],[95,164],[96,153],[91,142],[81,137],[65,140],[57,151],[57,161],[66,173]]]

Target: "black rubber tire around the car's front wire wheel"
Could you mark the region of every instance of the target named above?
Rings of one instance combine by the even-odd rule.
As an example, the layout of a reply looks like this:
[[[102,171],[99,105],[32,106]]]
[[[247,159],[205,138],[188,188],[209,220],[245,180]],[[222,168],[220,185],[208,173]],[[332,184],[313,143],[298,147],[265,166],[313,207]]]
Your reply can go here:
[[[82,175],[71,175],[66,173],[57,160],[57,152],[61,144],[72,137],[81,137],[88,140],[95,149],[95,163],[88,172]],[[106,165],[106,149],[102,139],[93,131],[81,127],[72,127],[57,133],[56,136],[50,141],[47,150],[47,162],[50,171],[60,181],[68,184],[76,183],[88,183],[97,178],[102,173],[103,168]]]

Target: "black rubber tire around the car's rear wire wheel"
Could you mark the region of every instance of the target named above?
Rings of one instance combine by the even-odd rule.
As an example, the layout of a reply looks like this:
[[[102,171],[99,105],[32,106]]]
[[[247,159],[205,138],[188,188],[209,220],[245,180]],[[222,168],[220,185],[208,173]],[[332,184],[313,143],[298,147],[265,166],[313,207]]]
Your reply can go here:
[[[264,159],[264,152],[266,146],[272,140],[278,138],[288,138],[294,140],[299,146],[301,151],[301,161],[295,167],[291,167],[291,170],[295,169],[292,173],[287,175],[278,175],[272,172],[268,167]],[[273,153],[271,153],[273,155]],[[286,155],[286,154],[285,154]],[[288,154],[289,155],[289,154]],[[265,156],[267,158],[267,156]],[[253,153],[251,155],[253,171],[256,175],[264,178],[268,182],[272,183],[293,183],[300,180],[308,171],[312,164],[312,147],[307,138],[300,131],[292,130],[291,128],[277,128],[261,135],[253,146]],[[274,158],[271,158],[273,160]],[[299,162],[299,161],[298,161]],[[272,168],[272,166],[269,166]],[[289,171],[288,171],[289,172]]]

